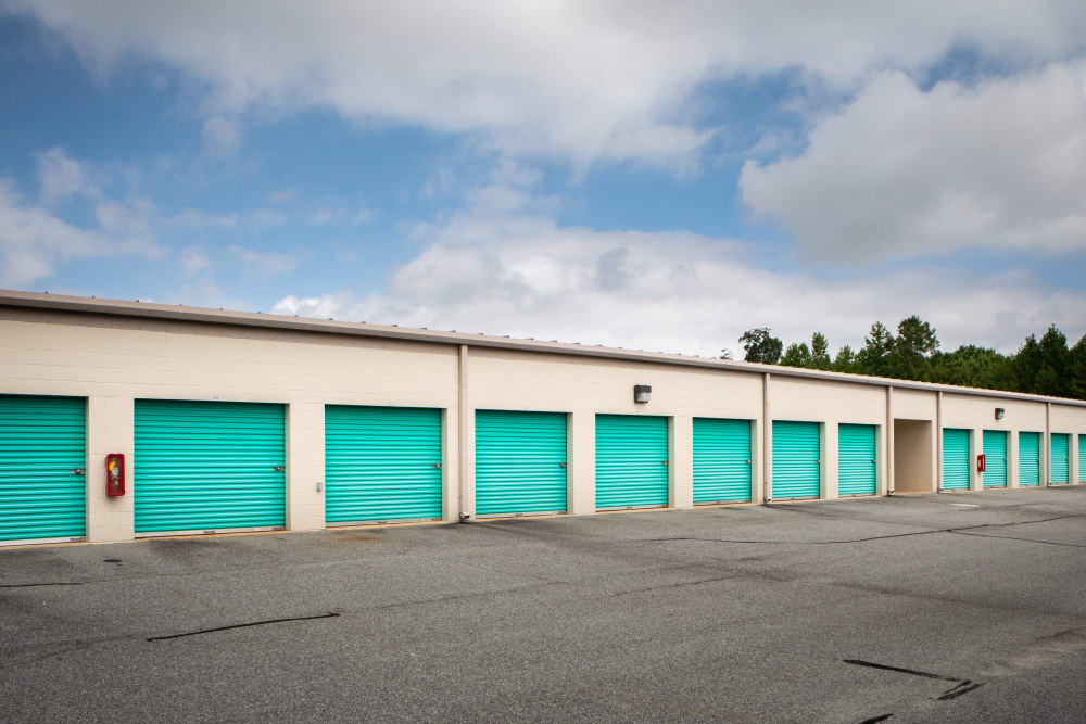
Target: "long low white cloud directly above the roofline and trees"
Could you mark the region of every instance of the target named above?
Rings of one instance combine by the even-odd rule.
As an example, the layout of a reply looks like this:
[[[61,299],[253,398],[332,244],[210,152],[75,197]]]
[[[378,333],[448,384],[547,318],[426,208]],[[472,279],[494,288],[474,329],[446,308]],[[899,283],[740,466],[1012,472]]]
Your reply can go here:
[[[422,227],[425,249],[381,291],[286,296],[279,314],[558,339],[717,355],[746,329],[786,340],[825,332],[857,344],[870,325],[912,314],[945,344],[1013,350],[1057,322],[1086,331],[1086,293],[1053,291],[1021,272],[912,269],[843,283],[742,261],[744,244],[685,232],[603,232],[546,216],[462,213]]]

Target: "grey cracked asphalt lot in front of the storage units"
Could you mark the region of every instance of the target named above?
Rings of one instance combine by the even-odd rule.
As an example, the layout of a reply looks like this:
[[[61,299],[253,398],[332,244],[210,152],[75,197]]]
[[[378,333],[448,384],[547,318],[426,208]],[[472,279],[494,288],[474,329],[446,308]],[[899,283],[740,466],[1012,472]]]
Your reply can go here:
[[[3,721],[1083,721],[1086,488],[0,549],[0,666]]]

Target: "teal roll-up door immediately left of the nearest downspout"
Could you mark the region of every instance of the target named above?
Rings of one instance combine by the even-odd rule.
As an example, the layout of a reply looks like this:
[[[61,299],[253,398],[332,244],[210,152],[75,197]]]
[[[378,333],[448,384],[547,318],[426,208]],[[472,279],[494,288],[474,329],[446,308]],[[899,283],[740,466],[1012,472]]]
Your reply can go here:
[[[441,518],[441,410],[325,407],[325,522]]]

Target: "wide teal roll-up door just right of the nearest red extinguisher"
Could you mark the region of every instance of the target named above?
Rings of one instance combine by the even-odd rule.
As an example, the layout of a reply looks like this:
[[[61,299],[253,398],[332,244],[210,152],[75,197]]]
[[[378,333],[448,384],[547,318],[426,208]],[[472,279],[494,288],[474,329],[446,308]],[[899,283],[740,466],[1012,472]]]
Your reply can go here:
[[[283,407],[136,401],[136,533],[282,528]]]

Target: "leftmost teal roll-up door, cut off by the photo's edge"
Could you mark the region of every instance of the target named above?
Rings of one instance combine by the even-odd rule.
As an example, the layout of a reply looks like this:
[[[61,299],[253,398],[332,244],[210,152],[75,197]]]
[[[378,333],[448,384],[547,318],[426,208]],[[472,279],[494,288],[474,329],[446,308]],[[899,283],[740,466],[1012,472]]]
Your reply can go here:
[[[0,541],[86,535],[86,416],[80,397],[0,396]]]

